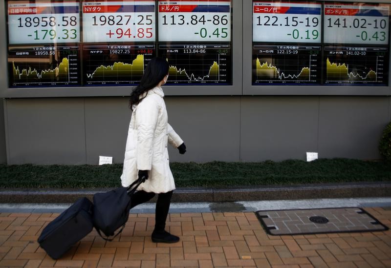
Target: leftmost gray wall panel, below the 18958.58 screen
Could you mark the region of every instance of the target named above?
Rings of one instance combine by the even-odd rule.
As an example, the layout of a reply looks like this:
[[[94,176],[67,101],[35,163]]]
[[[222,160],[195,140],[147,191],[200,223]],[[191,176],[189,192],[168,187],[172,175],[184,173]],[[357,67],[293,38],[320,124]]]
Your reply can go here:
[[[8,99],[8,164],[86,164],[84,99]]]

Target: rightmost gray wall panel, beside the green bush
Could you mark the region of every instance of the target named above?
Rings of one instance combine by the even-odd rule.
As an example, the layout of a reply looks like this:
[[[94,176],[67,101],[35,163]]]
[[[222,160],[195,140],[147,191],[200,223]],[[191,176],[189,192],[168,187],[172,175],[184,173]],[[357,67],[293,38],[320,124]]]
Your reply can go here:
[[[378,143],[389,122],[389,97],[323,97],[319,157],[379,159]]]

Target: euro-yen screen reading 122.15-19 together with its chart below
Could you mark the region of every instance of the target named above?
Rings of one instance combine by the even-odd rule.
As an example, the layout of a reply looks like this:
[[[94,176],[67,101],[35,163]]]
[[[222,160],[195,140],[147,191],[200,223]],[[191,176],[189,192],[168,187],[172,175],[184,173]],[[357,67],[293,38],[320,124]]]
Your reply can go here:
[[[252,84],[320,84],[321,34],[321,3],[253,1]]]

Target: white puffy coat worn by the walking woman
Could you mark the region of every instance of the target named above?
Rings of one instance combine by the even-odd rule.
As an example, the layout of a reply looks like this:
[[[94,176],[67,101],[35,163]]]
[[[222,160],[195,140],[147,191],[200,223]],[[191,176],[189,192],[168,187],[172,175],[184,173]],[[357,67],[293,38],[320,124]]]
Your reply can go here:
[[[167,143],[176,148],[183,141],[168,124],[163,97],[162,88],[156,86],[140,103],[133,105],[121,175],[124,187],[137,180],[138,170],[150,170],[148,180],[138,190],[166,193],[175,189]]]

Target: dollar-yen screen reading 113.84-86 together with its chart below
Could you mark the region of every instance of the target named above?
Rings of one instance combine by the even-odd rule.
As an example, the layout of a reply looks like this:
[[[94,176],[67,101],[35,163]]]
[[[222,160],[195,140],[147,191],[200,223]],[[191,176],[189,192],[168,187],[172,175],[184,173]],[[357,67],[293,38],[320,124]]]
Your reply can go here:
[[[160,57],[167,84],[232,84],[231,1],[158,1]]]

